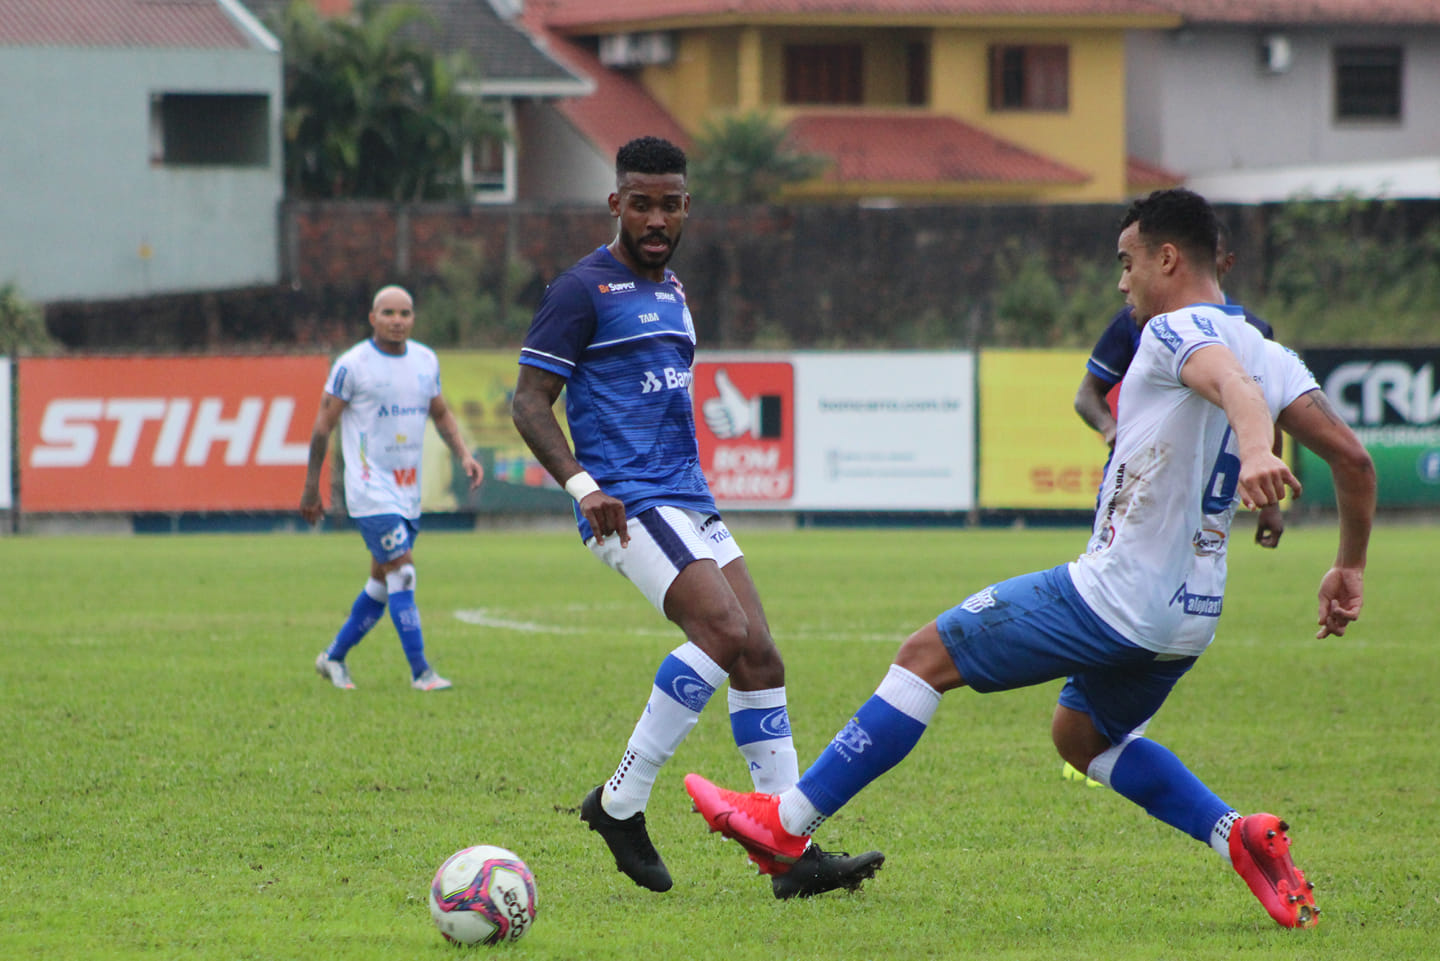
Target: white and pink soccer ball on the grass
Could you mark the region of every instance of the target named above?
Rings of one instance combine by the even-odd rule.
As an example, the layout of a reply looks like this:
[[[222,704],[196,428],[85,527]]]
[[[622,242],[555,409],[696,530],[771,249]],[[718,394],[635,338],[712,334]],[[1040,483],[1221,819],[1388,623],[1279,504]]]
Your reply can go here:
[[[518,941],[536,919],[536,877],[511,850],[467,847],[435,872],[431,916],[452,944]]]

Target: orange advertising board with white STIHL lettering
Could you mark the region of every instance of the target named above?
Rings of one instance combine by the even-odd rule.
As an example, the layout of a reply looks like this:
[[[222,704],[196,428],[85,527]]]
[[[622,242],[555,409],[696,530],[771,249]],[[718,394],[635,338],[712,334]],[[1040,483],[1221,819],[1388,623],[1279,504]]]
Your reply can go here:
[[[321,354],[23,359],[20,507],[292,509],[328,370]]]

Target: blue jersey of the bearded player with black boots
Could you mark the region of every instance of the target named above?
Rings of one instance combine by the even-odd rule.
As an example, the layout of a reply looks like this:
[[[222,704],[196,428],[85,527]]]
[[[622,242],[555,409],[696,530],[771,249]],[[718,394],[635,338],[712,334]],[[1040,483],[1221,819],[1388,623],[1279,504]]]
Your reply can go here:
[[[660,504],[716,513],[696,442],[694,357],[675,275],[651,282],[603,246],[546,288],[520,349],[520,363],[566,379],[575,458],[631,517]]]

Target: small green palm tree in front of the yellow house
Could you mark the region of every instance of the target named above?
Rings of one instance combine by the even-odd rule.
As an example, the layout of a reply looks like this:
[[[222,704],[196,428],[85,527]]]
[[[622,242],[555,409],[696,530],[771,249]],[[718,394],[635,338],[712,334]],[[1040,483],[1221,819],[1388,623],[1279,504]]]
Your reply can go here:
[[[829,163],[795,148],[785,127],[760,111],[706,121],[693,153],[693,193],[707,203],[769,203]]]

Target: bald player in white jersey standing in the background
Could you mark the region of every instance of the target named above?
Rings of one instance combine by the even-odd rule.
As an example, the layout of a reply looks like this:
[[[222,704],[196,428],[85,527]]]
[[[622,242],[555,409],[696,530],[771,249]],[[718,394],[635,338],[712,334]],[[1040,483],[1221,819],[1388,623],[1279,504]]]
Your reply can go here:
[[[416,690],[445,690],[451,683],[425,658],[420,612],[415,607],[415,539],[420,533],[420,455],[425,422],[435,426],[459,458],[469,488],[484,468],[465,448],[459,422],[441,396],[435,352],[410,340],[415,301],[400,287],[383,287],[370,307],[373,336],[336,360],[310,435],[310,465],[300,513],[311,524],[325,514],[320,470],[330,435],[340,425],[346,511],[370,550],[370,578],[350,617],[324,651],[315,671],[336,687],[353,690],[346,654],[379,622],[386,605],[410,664]]]

